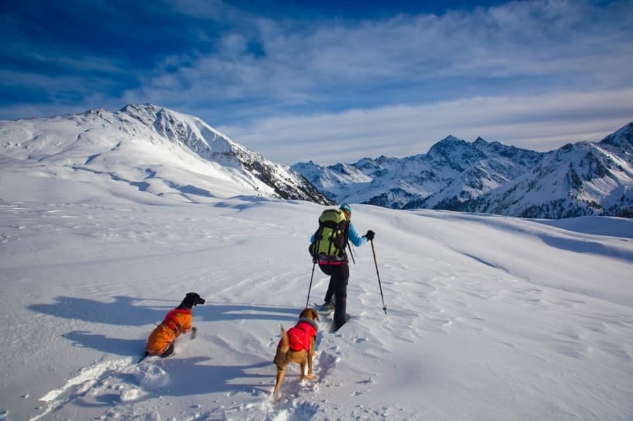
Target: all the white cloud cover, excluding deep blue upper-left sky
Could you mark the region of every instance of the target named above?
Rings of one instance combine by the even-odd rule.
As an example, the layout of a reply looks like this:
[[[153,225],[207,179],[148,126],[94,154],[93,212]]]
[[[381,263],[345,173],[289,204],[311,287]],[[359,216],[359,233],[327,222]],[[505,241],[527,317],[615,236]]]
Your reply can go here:
[[[196,17],[188,31],[198,44],[139,73],[138,88],[109,95],[112,81],[87,75],[74,82],[84,99],[39,109],[155,103],[290,164],[423,153],[448,134],[546,150],[633,119],[629,1],[513,1],[355,21],[169,4],[180,18]],[[98,67],[119,76],[117,65]],[[47,92],[56,83],[72,91],[65,77],[23,77]],[[29,108],[0,105],[0,117]]]

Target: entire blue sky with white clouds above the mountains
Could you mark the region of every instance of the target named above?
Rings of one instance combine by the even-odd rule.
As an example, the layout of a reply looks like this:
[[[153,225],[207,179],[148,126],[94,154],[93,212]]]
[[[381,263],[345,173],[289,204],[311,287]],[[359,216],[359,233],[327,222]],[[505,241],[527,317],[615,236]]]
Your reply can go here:
[[[153,103],[274,162],[633,121],[633,1],[0,1],[0,119]]]

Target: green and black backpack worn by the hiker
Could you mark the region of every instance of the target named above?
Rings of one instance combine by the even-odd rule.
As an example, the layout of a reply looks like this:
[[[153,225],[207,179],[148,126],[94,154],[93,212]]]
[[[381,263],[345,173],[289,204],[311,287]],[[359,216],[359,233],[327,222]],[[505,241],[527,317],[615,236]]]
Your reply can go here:
[[[326,209],[319,216],[319,228],[314,233],[314,240],[308,248],[312,261],[345,260],[347,246],[347,221],[341,209]]]

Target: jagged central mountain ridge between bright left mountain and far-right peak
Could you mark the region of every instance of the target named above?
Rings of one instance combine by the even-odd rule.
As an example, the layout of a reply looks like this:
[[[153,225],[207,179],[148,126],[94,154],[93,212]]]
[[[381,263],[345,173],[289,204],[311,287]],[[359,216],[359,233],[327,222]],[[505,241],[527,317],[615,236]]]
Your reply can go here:
[[[293,168],[338,202],[362,202],[393,209],[436,208],[487,193],[542,160],[544,154],[448,136],[426,154],[405,158],[364,158],[355,164],[321,167],[314,162]]]

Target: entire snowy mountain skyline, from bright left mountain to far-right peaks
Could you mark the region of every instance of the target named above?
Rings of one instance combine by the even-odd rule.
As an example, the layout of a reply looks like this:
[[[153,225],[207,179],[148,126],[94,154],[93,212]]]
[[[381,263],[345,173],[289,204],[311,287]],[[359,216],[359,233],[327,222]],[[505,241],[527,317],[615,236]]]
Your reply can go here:
[[[0,170],[83,185],[101,181],[103,190],[124,183],[188,202],[252,195],[544,219],[633,217],[633,123],[597,143],[548,153],[448,136],[411,157],[289,167],[231,141],[198,117],[126,105],[117,112],[0,122]]]

